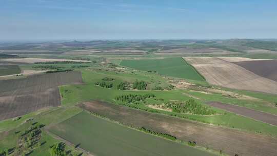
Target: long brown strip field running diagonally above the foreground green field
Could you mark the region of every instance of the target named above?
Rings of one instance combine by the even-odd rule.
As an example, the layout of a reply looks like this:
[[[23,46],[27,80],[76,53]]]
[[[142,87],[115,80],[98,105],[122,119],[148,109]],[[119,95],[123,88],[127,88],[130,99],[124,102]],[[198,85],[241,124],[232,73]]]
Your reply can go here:
[[[168,133],[177,139],[195,141],[199,146],[222,150],[229,155],[275,156],[277,153],[277,138],[266,135],[215,127],[100,101],[78,106],[125,125]]]

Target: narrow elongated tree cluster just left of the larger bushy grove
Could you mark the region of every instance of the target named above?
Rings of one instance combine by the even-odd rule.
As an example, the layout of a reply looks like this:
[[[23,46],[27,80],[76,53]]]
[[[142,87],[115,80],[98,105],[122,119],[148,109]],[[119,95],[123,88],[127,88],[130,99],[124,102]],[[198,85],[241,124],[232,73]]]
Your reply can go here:
[[[144,101],[147,98],[155,97],[154,94],[127,94],[127,95],[120,95],[116,96],[115,100],[123,102],[123,103],[134,103]]]

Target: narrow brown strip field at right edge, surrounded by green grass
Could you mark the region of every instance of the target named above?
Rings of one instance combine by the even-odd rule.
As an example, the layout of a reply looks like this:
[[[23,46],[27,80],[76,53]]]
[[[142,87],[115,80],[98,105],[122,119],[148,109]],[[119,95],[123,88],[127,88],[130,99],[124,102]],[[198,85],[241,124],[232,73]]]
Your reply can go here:
[[[231,105],[231,104],[224,104],[221,102],[208,102],[207,104],[212,107],[227,110],[229,112],[233,112],[233,113],[236,113],[239,115],[246,116],[248,118],[252,118],[255,120],[262,121],[264,123],[268,123],[268,124],[277,126],[277,115],[272,115],[269,113],[256,111],[256,110],[252,110],[249,108],[235,106],[235,105]]]

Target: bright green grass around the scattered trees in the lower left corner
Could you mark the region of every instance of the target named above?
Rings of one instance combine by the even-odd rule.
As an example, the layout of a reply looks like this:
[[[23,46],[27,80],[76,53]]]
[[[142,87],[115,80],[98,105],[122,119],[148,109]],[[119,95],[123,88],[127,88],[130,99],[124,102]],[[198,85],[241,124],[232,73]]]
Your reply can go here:
[[[18,134],[15,134],[16,131],[24,131],[28,127],[31,126],[31,122],[25,122],[29,118],[33,118],[33,122],[38,122],[39,124],[46,125],[45,127],[49,127],[53,124],[58,124],[63,122],[72,116],[80,113],[82,111],[81,108],[78,107],[58,107],[51,108],[46,110],[40,110],[38,112],[29,113],[22,116],[22,119],[17,121],[12,121],[12,119],[1,121],[0,127],[1,130],[5,130],[8,132],[0,133],[0,150],[1,149],[9,149],[16,146],[16,141],[18,138]],[[44,129],[42,131],[42,139],[39,142],[45,142],[39,148],[34,149],[34,151],[30,155],[50,155],[49,154],[49,146],[56,143],[61,142],[58,139],[53,138],[53,136],[49,135]],[[66,150],[73,150],[74,147],[67,145]],[[78,152],[80,153],[80,152]],[[85,155],[85,154],[83,154]]]

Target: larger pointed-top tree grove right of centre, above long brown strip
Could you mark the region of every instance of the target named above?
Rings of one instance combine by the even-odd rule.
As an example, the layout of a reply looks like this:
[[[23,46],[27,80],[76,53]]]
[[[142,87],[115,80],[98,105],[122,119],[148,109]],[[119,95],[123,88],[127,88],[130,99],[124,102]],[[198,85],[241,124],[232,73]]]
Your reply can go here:
[[[200,114],[200,115],[212,115],[216,112],[212,109],[209,109],[208,107],[205,107],[199,103],[197,103],[195,100],[190,99],[183,102],[173,102],[173,103],[167,103],[167,108],[172,109],[173,112],[178,113],[192,113],[192,114]]]

